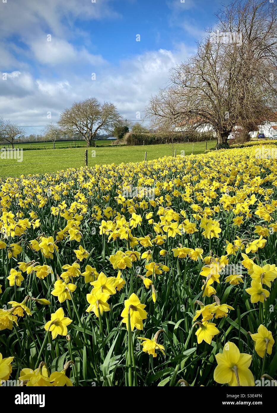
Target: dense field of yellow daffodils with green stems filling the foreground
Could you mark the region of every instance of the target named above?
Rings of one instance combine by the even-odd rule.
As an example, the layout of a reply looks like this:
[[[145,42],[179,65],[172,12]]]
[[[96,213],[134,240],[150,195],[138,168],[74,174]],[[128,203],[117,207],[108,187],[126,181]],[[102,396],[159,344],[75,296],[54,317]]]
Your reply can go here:
[[[0,179],[2,385],[276,379],[277,160],[265,152]]]

